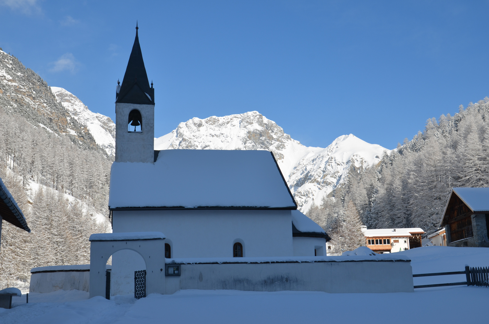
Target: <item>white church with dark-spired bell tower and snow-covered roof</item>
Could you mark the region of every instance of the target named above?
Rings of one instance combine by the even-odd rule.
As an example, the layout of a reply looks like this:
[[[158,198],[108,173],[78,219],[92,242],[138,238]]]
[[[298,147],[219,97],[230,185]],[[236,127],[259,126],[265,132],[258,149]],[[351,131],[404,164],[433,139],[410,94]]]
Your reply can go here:
[[[115,114],[113,233],[164,233],[166,259],[326,255],[328,234],[297,210],[273,153],[154,150],[155,89],[137,26]],[[132,293],[143,269],[138,253],[114,253],[111,295]]]

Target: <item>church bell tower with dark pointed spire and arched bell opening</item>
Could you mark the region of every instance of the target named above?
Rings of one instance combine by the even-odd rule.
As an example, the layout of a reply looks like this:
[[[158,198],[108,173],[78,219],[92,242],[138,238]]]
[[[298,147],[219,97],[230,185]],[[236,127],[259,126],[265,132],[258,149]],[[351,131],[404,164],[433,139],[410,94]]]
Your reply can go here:
[[[126,73],[115,91],[115,162],[154,161],[155,89],[144,67],[138,29],[136,23]]]

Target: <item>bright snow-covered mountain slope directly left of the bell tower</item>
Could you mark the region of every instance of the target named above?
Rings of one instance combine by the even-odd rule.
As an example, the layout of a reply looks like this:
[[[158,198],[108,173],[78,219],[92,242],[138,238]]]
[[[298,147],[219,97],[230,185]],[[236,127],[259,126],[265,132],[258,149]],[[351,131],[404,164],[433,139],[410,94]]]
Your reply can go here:
[[[83,102],[67,90],[51,87],[56,100],[65,108],[72,118],[83,127],[83,132],[89,132],[97,145],[104,149],[109,156],[115,155],[115,124],[108,116],[92,113]],[[69,117],[68,117],[69,118]],[[76,130],[68,129],[75,135]]]

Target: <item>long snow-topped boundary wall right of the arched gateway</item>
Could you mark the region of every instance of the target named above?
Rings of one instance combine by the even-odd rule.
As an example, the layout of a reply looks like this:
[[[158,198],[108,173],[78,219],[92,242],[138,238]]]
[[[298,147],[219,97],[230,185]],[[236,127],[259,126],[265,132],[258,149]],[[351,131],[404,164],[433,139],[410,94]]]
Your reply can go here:
[[[166,294],[179,289],[327,293],[414,291],[411,262],[397,257],[291,257],[268,262],[254,260],[262,258],[240,258],[242,260],[238,262],[236,258],[232,259],[167,259],[166,264],[181,264],[181,276],[166,277]]]

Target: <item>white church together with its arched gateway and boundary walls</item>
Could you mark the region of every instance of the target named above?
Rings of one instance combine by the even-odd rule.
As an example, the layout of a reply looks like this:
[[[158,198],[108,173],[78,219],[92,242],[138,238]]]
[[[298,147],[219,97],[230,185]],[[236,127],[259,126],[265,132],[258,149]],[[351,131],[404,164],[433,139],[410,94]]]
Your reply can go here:
[[[116,88],[112,233],[90,235],[89,265],[32,269],[31,292],[413,291],[405,256],[365,247],[326,256],[328,234],[297,210],[271,152],[155,151],[155,90],[137,29]]]

